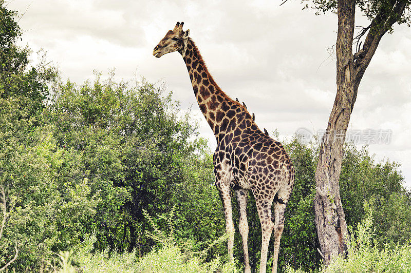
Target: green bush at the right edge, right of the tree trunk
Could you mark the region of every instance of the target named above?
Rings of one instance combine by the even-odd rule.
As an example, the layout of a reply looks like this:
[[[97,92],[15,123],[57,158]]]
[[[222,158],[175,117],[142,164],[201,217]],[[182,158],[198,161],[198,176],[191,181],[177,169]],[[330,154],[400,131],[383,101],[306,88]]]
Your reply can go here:
[[[373,211],[376,232],[384,243],[403,244],[411,236],[411,198],[404,188],[399,165],[388,160],[376,163],[364,147],[346,145],[340,175],[341,200],[348,225]]]

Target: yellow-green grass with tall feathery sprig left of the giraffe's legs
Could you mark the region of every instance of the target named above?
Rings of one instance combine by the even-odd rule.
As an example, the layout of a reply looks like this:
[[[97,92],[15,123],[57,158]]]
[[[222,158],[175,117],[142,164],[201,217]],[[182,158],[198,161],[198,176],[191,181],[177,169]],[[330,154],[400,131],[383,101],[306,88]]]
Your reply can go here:
[[[177,242],[174,237],[172,218],[174,209],[167,215],[159,216],[157,220],[167,223],[167,230],[159,228],[157,221],[144,211],[144,215],[153,227],[153,232],[146,231],[146,236],[158,243],[152,251],[140,259],[136,252],[93,251],[96,236],[87,236],[84,241],[74,248],[73,254],[60,253],[59,273],[81,272],[239,272],[233,263],[227,258],[217,257],[211,262],[204,262],[203,257],[208,249],[227,236],[222,236],[213,242],[207,249],[200,252],[192,251],[189,241]]]

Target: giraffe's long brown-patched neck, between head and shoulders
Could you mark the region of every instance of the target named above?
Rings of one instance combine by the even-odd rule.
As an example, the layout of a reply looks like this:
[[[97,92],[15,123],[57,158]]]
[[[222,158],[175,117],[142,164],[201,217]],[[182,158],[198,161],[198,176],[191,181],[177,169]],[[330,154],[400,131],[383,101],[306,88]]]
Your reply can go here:
[[[191,38],[188,38],[180,54],[189,71],[198,106],[213,130],[217,142],[235,127],[248,127],[250,123],[254,123],[247,109],[230,99],[215,83]],[[240,123],[245,124],[242,126]]]

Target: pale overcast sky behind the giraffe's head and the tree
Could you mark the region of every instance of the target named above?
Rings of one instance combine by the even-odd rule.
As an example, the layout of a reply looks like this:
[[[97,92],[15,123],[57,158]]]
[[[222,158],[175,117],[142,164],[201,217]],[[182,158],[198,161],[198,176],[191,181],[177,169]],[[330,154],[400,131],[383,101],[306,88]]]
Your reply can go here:
[[[176,22],[184,22],[217,84],[244,101],[256,123],[282,138],[298,128],[325,129],[335,96],[337,15],[302,11],[300,1],[14,0],[25,12],[23,43],[43,48],[63,78],[81,84],[97,69],[118,79],[163,80],[183,109],[193,105],[200,132],[215,139],[195,101],[178,53],[156,59],[153,48]],[[235,4],[234,4],[235,3]],[[357,14],[356,25],[366,26]],[[334,47],[335,48],[335,47]],[[391,130],[389,144],[372,144],[376,161],[401,164],[411,187],[411,30],[385,35],[365,72],[349,128]],[[370,132],[370,131],[368,131]],[[360,144],[360,146],[362,146]]]

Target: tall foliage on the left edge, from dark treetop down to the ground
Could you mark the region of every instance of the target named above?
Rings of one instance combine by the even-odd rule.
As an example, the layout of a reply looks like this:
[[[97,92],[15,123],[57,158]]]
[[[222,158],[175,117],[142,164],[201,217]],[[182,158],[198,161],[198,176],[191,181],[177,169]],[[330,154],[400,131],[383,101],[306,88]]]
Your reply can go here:
[[[54,184],[62,153],[52,138],[53,128],[45,126],[42,117],[54,70],[44,63],[29,67],[30,51],[14,44],[21,35],[16,13],[6,9],[4,1],[0,4],[0,187],[5,220],[0,264],[10,261],[17,247],[11,266],[21,271],[52,255],[52,246],[62,238],[59,232],[65,231],[57,228],[65,220],[61,206],[70,203],[62,204]]]

